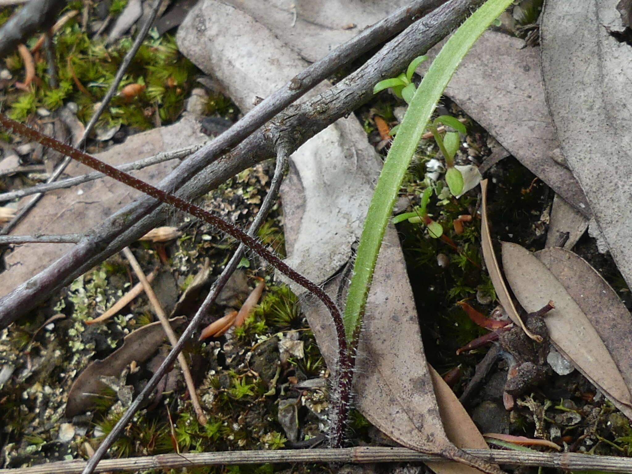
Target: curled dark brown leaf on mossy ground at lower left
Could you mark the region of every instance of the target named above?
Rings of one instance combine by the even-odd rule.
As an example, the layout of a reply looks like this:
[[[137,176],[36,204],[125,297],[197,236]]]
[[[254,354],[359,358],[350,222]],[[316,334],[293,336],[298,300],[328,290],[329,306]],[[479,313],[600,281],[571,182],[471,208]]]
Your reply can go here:
[[[186,317],[170,319],[171,327],[176,329],[185,322]],[[143,362],[152,355],[162,341],[166,339],[160,322],[152,322],[136,331],[130,332],[123,345],[103,360],[95,360],[77,377],[68,393],[66,416],[78,415],[94,407],[98,394],[107,386],[99,377],[119,377],[125,367],[132,361]],[[95,394],[97,394],[95,396]]]

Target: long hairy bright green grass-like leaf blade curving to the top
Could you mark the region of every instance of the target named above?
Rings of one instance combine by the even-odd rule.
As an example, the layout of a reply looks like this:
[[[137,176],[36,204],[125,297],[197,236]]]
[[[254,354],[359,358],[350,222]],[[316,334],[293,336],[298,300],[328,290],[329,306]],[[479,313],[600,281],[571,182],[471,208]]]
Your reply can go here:
[[[375,186],[367,218],[364,222],[360,244],[356,253],[353,276],[349,284],[344,328],[347,339],[353,343],[356,328],[362,320],[371,285],[377,254],[384,238],[384,231],[391,218],[399,186],[408,169],[417,143],[422,137],[430,116],[441,98],[447,83],[465,54],[513,0],[488,0],[468,18],[447,40],[422,83],[413,96],[408,111],[386,157],[382,173]]]

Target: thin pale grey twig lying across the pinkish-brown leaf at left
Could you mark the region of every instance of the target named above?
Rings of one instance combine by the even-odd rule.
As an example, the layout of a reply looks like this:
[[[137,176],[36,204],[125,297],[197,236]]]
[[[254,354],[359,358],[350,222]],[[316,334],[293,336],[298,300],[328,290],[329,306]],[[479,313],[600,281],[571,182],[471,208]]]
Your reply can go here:
[[[182,148],[179,150],[173,150],[171,152],[157,153],[147,158],[143,158],[137,161],[133,161],[131,163],[126,163],[120,166],[116,166],[116,169],[119,169],[121,171],[134,171],[137,169],[143,169],[144,167],[147,167],[147,166],[152,166],[154,164],[162,163],[164,161],[185,158],[191,153],[197,152],[197,150],[201,149],[203,146],[204,145],[202,144],[191,145],[190,147]],[[42,168],[42,171],[43,171],[44,168],[42,166],[40,165],[37,165],[37,166]],[[37,171],[40,171],[40,170],[38,169]],[[11,201],[13,199],[25,197],[31,194],[45,193],[46,191],[52,191],[52,190],[62,189],[62,188],[70,188],[71,186],[87,183],[88,181],[93,181],[94,179],[103,178],[104,176],[106,175],[103,173],[99,173],[99,171],[93,171],[92,173],[86,173],[86,174],[82,174],[81,176],[75,176],[75,178],[60,179],[59,181],[55,181],[54,183],[42,183],[41,185],[30,186],[30,188],[23,188],[20,190],[0,193],[0,202]]]

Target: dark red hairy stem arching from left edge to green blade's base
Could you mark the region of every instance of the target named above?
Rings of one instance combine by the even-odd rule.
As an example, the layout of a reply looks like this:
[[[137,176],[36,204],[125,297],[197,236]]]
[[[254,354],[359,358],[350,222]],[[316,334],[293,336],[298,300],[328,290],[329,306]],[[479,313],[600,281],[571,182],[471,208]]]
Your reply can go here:
[[[135,188],[143,193],[161,201],[166,204],[171,204],[173,207],[177,207],[178,209],[184,210],[188,212],[192,216],[199,217],[200,219],[204,219],[204,221],[209,222],[212,226],[215,226],[220,231],[229,234],[230,236],[236,238],[238,241],[243,243],[246,247],[250,248],[253,252],[257,253],[260,257],[267,260],[270,265],[275,267],[289,279],[295,281],[300,284],[303,288],[310,291],[313,295],[319,298],[320,301],[327,307],[329,313],[331,313],[331,317],[334,320],[334,325],[336,326],[336,336],[338,339],[338,349],[340,355],[341,365],[345,365],[346,362],[349,361],[347,356],[347,342],[344,336],[344,325],[343,319],[340,315],[340,312],[334,301],[329,298],[327,293],[323,291],[317,284],[308,280],[306,277],[296,272],[296,270],[291,269],[288,265],[286,265],[279,257],[276,257],[272,252],[270,252],[264,245],[262,245],[255,238],[250,237],[240,228],[234,226],[230,222],[224,221],[221,217],[214,216],[207,210],[202,209],[196,205],[191,204],[190,202],[186,202],[185,200],[174,196],[171,193],[167,193],[166,191],[162,191],[155,186],[150,185],[149,183],[145,183],[131,174],[127,174],[119,169],[116,169],[113,166],[110,166],[107,163],[104,163],[95,157],[92,157],[86,153],[81,152],[80,150],[71,147],[70,145],[66,145],[65,143],[61,143],[54,138],[47,137],[43,133],[40,133],[33,128],[30,128],[27,125],[16,122],[15,120],[9,119],[6,115],[0,114],[0,124],[4,126],[9,132],[13,131],[18,133],[22,137],[28,138],[29,140],[33,140],[35,142],[42,143],[45,147],[50,147],[53,150],[56,150],[64,155],[70,156],[72,159],[76,161],[82,162],[86,166],[91,167],[97,171],[100,171],[111,178],[116,179],[117,181],[121,181],[121,183],[125,183],[132,188]],[[341,370],[344,368],[341,367]]]

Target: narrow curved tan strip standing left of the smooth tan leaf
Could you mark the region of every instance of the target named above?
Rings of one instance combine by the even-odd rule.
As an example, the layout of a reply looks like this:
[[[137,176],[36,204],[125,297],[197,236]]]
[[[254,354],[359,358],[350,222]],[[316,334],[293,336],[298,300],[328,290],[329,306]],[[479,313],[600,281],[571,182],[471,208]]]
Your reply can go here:
[[[499,301],[501,301],[501,305],[505,308],[505,311],[511,318],[511,320],[519,324],[525,334],[534,341],[538,341],[538,343],[542,342],[542,337],[536,336],[532,334],[531,331],[526,329],[525,323],[522,322],[522,319],[518,315],[518,311],[514,306],[513,301],[511,300],[511,295],[509,295],[509,291],[507,290],[507,286],[505,285],[505,281],[502,278],[501,269],[498,266],[498,261],[496,260],[496,255],[494,254],[494,246],[492,246],[492,238],[489,236],[489,222],[487,221],[487,179],[483,179],[480,182],[480,191],[483,195],[483,205],[481,206],[481,224],[480,224],[480,240],[481,246],[483,248],[483,258],[485,259],[485,265],[487,265],[487,271],[489,272],[489,277],[494,284],[494,289],[496,291],[496,295],[498,296]]]

